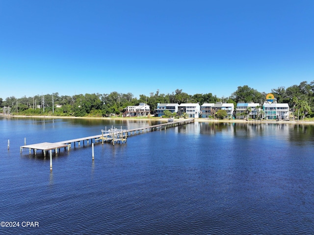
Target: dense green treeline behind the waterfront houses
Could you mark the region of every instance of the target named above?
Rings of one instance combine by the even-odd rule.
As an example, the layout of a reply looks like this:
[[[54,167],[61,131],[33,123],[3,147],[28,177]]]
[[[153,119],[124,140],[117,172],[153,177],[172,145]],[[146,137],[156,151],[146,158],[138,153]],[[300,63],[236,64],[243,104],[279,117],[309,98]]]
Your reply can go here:
[[[288,103],[291,110],[298,111],[303,116],[314,116],[314,81],[301,82],[299,85],[292,85],[288,88],[278,87],[272,89],[277,103]],[[123,109],[128,105],[146,103],[151,107],[151,113],[155,113],[158,103],[234,103],[254,102],[263,104],[266,100],[266,93],[259,92],[247,85],[238,86],[237,90],[230,97],[217,97],[212,93],[189,95],[177,89],[171,94],[152,92],[149,96],[140,95],[139,99],[134,98],[132,93],[110,94],[79,94],[74,96],[60,96],[58,93],[36,95],[34,97],[7,97],[4,101],[0,98],[2,113],[23,114],[23,115],[56,115],[56,116],[97,116],[105,117],[112,114],[121,115]]]

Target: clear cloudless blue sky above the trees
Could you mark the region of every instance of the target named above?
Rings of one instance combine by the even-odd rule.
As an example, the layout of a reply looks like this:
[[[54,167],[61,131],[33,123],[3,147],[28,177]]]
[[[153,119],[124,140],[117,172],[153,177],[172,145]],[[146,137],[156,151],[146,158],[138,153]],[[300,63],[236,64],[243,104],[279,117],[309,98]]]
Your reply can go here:
[[[314,80],[314,0],[0,0],[0,98]]]

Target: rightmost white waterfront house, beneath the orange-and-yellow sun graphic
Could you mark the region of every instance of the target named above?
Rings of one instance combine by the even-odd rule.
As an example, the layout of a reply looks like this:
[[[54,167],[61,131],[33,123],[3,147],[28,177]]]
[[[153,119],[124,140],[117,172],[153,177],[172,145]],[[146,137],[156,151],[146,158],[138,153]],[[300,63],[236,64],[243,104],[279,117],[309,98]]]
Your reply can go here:
[[[276,101],[263,104],[265,119],[289,120],[289,105],[287,103],[277,104]]]

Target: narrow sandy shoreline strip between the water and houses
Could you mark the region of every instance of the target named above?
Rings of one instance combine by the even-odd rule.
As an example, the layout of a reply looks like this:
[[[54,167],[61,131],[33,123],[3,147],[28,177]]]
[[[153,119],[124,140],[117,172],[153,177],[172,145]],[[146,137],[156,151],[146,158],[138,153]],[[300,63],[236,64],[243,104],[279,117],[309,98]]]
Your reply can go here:
[[[126,118],[126,117],[73,117],[73,116],[26,116],[26,115],[10,115],[2,117],[23,117],[23,118],[64,118],[64,119],[99,119],[99,120],[155,120],[155,121],[167,121],[168,118]],[[183,119],[175,119],[183,120]],[[280,124],[311,124],[314,125],[314,121],[286,121],[286,120],[244,120],[244,119],[233,119],[233,120],[216,120],[216,119],[207,119],[207,118],[194,118],[195,122],[209,122],[209,123],[247,123],[247,124],[259,124],[259,123],[280,123]]]

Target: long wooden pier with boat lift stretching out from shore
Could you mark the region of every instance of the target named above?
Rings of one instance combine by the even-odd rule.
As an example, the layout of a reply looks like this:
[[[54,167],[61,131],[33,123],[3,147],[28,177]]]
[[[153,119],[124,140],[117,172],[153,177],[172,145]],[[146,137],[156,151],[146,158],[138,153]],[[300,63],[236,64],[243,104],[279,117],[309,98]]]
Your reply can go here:
[[[96,143],[96,141],[102,141],[102,144],[104,142],[111,142],[113,145],[115,142],[120,142],[124,143],[127,141],[127,136],[130,135],[135,135],[137,133],[146,133],[148,131],[157,131],[157,130],[166,130],[167,128],[172,128],[172,127],[177,127],[189,123],[193,123],[194,119],[185,119],[185,120],[180,120],[180,121],[171,121],[168,123],[163,123],[163,124],[157,124],[149,127],[142,127],[142,128],[136,128],[136,129],[131,129],[131,130],[122,130],[121,129],[109,129],[107,130],[102,130],[102,134],[98,135],[92,135],[92,136],[87,136],[87,137],[82,137],[82,138],[77,138],[77,139],[69,139],[69,140],[64,140],[60,142],[43,142],[43,143],[38,143],[38,144],[30,144],[30,145],[24,145],[21,146],[20,151],[21,153],[23,152],[23,149],[29,149],[29,154],[31,154],[31,150],[33,150],[33,153],[36,155],[37,150],[41,150],[46,156],[46,153],[48,151],[54,150],[55,153],[61,148],[68,149],[70,151],[71,149],[71,144],[74,146],[76,143],[78,143],[78,146],[82,142],[83,145],[85,144],[85,141],[87,141],[87,144],[89,144],[89,140],[93,143]],[[105,133],[104,133],[105,132]]]

